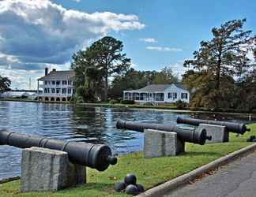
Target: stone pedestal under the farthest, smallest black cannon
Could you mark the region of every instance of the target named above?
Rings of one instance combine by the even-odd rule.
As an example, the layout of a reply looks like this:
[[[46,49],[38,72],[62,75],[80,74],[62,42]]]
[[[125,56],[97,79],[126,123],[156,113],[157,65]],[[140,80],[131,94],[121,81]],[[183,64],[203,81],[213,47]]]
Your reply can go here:
[[[198,129],[202,128],[205,128],[208,136],[212,136],[212,140],[206,140],[206,143],[228,142],[229,133],[226,132],[226,128],[224,126],[200,124]]]

